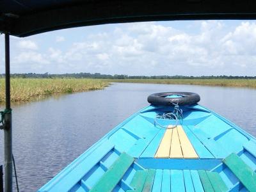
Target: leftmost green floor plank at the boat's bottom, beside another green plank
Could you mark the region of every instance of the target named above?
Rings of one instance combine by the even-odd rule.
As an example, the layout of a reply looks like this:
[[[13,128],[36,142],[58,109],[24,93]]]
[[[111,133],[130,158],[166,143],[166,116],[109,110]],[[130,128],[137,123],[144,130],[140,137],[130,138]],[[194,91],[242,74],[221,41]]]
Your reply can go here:
[[[128,190],[129,192],[141,192],[143,186],[145,184],[145,180],[147,178],[148,170],[139,170],[135,173],[130,186],[134,188],[134,190]],[[127,192],[128,192],[127,191]]]

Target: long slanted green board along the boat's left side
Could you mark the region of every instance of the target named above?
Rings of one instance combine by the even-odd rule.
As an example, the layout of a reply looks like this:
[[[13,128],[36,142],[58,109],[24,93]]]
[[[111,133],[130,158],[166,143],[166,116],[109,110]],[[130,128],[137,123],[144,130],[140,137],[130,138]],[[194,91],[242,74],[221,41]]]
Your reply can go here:
[[[133,161],[134,159],[131,156],[122,153],[90,191],[112,191],[116,184],[118,184],[122,179],[124,173],[128,170]]]

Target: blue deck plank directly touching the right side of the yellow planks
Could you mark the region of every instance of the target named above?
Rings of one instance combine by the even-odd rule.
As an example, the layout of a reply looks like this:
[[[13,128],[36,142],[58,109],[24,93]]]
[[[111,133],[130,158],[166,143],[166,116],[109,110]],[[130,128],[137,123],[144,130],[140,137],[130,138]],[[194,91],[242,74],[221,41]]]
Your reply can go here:
[[[196,153],[198,154],[198,156],[201,159],[214,158],[214,156],[212,156],[211,152],[209,152],[209,150],[201,143],[201,141],[198,140],[198,138],[196,138],[195,134],[193,134],[193,132],[190,129],[188,129],[187,126],[182,126],[182,127],[183,127],[184,131],[186,132],[186,134],[189,138],[189,141],[195,148]]]

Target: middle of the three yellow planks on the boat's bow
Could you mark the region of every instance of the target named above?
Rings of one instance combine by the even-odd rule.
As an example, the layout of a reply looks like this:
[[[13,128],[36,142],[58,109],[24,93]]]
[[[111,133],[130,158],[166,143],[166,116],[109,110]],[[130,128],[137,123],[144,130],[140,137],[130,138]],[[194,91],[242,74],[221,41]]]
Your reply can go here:
[[[173,128],[172,131],[170,158],[183,158],[177,127]]]

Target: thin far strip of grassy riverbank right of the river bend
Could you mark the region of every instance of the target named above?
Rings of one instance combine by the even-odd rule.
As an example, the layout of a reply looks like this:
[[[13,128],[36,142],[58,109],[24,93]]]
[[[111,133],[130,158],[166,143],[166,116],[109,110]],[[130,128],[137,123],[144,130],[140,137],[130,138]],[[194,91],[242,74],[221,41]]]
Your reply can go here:
[[[109,81],[109,80],[108,80]],[[118,83],[195,84],[256,88],[256,79],[111,79]]]

